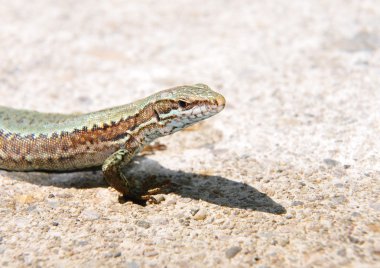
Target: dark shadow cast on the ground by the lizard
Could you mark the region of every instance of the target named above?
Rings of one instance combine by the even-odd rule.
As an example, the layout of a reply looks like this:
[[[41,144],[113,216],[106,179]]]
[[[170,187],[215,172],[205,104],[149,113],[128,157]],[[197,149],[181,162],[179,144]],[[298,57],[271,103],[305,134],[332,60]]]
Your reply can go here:
[[[265,193],[254,187],[221,176],[174,171],[161,166],[157,161],[137,157],[133,165],[123,170],[128,176],[142,180],[154,180],[157,184],[170,181],[164,192],[178,194],[185,198],[201,199],[219,206],[261,211],[272,214],[286,213],[286,209]],[[101,171],[76,172],[11,172],[12,178],[41,186],[60,188],[108,187]],[[152,174],[154,174],[152,176]]]

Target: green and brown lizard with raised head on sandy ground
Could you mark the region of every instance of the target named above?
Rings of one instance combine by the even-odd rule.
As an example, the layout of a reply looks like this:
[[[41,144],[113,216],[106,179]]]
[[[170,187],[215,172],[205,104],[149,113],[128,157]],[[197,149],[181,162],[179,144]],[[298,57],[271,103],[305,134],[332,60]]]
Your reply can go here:
[[[178,86],[130,104],[84,114],[0,106],[0,169],[75,171],[101,167],[124,197],[149,200],[152,189],[123,167],[156,138],[219,113],[225,98],[207,85]]]

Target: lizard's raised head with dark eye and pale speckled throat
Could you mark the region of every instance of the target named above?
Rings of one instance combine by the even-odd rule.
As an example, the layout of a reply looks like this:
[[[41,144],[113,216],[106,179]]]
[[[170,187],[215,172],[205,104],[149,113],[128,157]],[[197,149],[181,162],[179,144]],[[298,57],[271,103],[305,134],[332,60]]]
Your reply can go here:
[[[224,97],[203,84],[180,86],[152,96],[161,135],[168,135],[223,110]]]

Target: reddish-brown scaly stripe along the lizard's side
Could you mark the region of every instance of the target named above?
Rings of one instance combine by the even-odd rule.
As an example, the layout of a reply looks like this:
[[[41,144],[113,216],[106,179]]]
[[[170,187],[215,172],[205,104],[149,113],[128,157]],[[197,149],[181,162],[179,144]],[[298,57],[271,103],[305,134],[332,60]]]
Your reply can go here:
[[[80,165],[83,156],[94,154],[94,150],[99,150],[99,154],[102,154],[107,150],[106,147],[115,147],[119,140],[122,142],[129,135],[127,131],[138,129],[138,126],[155,116],[154,109],[159,113],[168,113],[175,105],[174,101],[163,100],[147,105],[136,115],[111,121],[111,124],[98,123],[91,128],[78,126],[71,132],[62,131],[49,136],[36,133],[23,137],[17,133],[1,131],[0,152],[5,156],[0,160],[0,168],[49,170],[55,169],[59,164],[62,164],[63,169],[76,167]],[[156,126],[148,126],[149,129],[154,127]],[[138,129],[136,134],[140,133],[143,134],[143,131]]]

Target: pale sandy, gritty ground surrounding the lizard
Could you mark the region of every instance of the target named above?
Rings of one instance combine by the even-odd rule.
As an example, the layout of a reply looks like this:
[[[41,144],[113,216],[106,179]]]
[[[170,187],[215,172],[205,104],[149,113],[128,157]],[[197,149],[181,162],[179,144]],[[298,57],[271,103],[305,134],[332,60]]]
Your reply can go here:
[[[0,1],[0,105],[86,112],[206,83],[226,109],[130,172],[0,171],[0,266],[379,267],[377,1]]]

